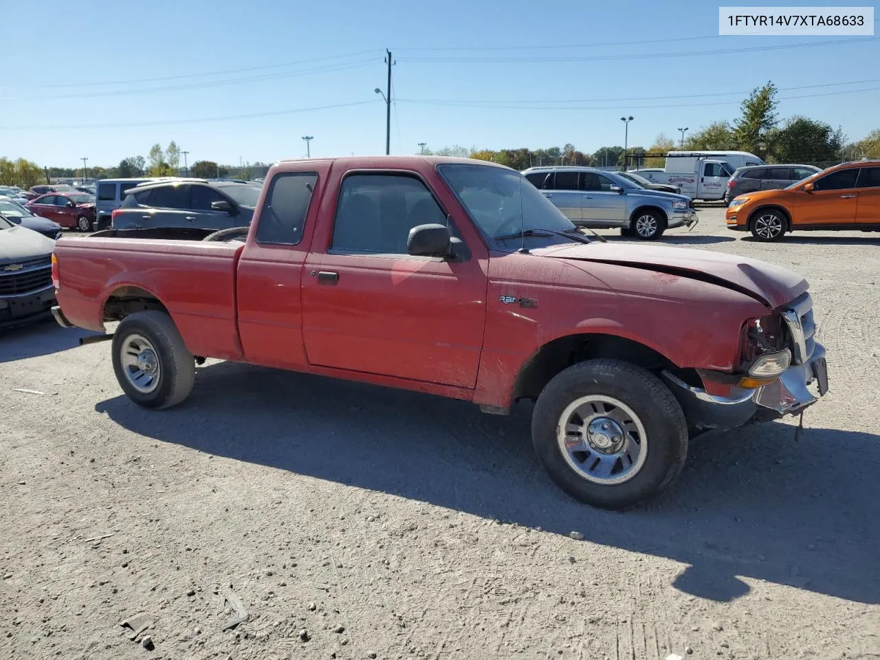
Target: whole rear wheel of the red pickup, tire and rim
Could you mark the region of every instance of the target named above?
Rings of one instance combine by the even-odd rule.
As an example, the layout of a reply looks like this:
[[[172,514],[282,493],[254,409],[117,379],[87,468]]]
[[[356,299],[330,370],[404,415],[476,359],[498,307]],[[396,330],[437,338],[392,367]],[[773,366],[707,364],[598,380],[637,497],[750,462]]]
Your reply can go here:
[[[122,391],[138,406],[168,408],[189,396],[195,362],[165,312],[136,312],[113,335],[113,368]]]

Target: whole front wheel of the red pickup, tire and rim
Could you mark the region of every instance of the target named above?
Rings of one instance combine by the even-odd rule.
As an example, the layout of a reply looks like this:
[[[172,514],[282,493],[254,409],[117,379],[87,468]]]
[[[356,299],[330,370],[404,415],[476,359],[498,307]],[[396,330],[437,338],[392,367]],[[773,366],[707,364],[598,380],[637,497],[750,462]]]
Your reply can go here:
[[[681,472],[685,414],[652,373],[620,360],[587,360],[540,393],[532,442],[557,486],[602,509],[654,499]]]

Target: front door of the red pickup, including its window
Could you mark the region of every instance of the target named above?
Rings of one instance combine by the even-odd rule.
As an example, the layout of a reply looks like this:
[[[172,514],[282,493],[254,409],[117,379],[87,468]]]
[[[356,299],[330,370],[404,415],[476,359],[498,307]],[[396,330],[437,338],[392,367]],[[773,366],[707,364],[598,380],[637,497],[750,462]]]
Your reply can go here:
[[[407,254],[414,226],[451,222],[414,172],[348,173],[334,204],[322,205],[331,235],[303,269],[309,363],[473,388],[487,277],[471,252],[482,246],[459,244],[455,260]]]

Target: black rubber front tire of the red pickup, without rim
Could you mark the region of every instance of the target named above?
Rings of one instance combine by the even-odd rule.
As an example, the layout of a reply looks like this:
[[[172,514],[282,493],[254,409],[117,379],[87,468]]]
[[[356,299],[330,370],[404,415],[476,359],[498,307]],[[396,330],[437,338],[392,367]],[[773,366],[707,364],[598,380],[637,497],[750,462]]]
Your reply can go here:
[[[590,395],[619,400],[645,429],[644,463],[628,480],[602,484],[568,465],[557,439],[561,414]],[[647,370],[621,360],[587,360],[568,367],[540,393],[532,414],[532,443],[550,478],[568,495],[600,509],[624,510],[661,495],[678,477],[687,456],[685,414],[672,392]],[[585,464],[584,464],[585,465]]]

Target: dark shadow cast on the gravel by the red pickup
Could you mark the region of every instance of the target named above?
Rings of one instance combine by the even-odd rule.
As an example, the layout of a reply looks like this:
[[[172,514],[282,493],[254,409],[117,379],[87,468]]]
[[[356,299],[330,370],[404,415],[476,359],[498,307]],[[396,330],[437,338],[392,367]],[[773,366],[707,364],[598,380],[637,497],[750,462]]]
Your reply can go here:
[[[880,437],[772,423],[695,441],[671,493],[641,510],[594,510],[539,466],[528,405],[510,417],[463,401],[233,363],[198,370],[163,412],[123,396],[95,409],[142,436],[290,473],[687,564],[674,586],[744,596],[749,579],[880,602]],[[744,579],[741,579],[741,577]]]

